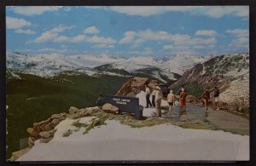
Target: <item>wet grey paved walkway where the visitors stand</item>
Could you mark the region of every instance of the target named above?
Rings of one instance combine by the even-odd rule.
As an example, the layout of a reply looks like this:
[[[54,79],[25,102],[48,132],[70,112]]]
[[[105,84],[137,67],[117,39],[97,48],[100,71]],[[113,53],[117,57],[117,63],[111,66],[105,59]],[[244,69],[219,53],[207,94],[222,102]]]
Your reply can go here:
[[[163,107],[162,110],[167,112],[168,108]],[[162,117],[170,118],[172,122],[207,121],[214,126],[214,129],[229,131],[234,134],[249,135],[250,123],[248,118],[231,112],[213,110],[212,108],[209,108],[206,112],[203,106],[188,104],[185,115],[181,115],[179,106],[175,106],[171,116],[168,116],[168,113],[163,113]]]

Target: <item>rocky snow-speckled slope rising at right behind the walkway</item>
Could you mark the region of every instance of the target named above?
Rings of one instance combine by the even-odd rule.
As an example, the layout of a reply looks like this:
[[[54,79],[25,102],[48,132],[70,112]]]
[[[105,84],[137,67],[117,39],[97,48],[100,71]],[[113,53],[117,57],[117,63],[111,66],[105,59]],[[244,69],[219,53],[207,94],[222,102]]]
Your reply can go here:
[[[224,109],[241,111],[249,107],[249,54],[223,54],[184,72],[171,89],[196,83],[201,89],[220,90]],[[212,93],[213,94],[213,93]]]

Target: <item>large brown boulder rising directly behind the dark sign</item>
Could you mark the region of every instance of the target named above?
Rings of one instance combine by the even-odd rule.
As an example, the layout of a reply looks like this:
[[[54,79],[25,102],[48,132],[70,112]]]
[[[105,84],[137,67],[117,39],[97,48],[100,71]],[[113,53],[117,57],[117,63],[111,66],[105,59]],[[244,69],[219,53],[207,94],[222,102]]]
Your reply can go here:
[[[125,82],[115,95],[125,96],[131,92],[137,94],[140,90],[145,91],[145,84],[149,83],[148,77],[132,77]]]

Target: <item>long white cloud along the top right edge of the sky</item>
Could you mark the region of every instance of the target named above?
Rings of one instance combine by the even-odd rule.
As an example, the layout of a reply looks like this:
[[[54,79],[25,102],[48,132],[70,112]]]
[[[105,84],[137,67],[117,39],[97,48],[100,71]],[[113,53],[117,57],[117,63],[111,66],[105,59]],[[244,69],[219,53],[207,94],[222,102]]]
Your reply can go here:
[[[89,8],[89,7],[86,7]],[[166,12],[189,12],[189,14],[207,15],[212,18],[220,18],[225,15],[247,18],[248,6],[111,6],[90,7],[90,9],[106,9],[127,15],[147,17]]]

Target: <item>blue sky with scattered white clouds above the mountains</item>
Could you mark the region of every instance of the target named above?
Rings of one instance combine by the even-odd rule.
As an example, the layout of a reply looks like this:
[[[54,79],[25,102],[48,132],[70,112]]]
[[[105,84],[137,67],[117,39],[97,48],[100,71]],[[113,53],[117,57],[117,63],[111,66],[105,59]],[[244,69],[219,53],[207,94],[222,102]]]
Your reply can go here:
[[[7,7],[7,50],[161,58],[247,52],[248,6]]]

